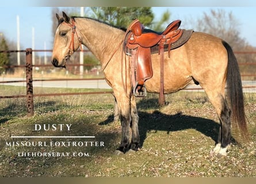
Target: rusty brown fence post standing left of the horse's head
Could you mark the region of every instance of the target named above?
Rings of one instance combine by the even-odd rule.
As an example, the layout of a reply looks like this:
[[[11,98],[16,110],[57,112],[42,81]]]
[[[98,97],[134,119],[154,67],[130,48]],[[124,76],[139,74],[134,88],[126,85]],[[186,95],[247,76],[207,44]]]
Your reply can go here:
[[[32,48],[26,48],[26,112],[28,117],[34,115]]]

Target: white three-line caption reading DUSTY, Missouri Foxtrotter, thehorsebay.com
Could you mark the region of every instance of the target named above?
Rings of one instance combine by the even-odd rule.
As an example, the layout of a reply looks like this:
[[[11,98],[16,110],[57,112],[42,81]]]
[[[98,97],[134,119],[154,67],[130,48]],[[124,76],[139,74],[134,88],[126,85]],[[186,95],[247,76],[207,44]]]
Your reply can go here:
[[[71,131],[72,124],[35,124],[33,131]],[[30,148],[32,147],[33,151],[18,151],[17,156],[21,157],[88,157],[91,156],[89,152],[86,151],[88,147],[104,147],[104,141],[94,141],[95,136],[11,136],[12,141],[6,141],[6,149],[14,147]],[[18,140],[16,138],[19,138]],[[45,140],[45,139],[50,140]],[[54,140],[52,140],[54,138]],[[79,138],[79,141],[77,140]],[[36,139],[36,141],[35,141]],[[55,140],[56,139],[56,140]],[[41,151],[49,150],[46,148],[54,148],[55,151]],[[62,148],[56,151],[55,148]],[[35,149],[39,148],[39,149]],[[43,149],[45,148],[45,149]],[[75,151],[75,148],[80,151]],[[20,150],[20,149],[19,149]],[[39,150],[39,151],[35,151]],[[51,149],[50,149],[51,150]],[[63,151],[65,150],[65,151]],[[81,151],[83,150],[83,151]]]

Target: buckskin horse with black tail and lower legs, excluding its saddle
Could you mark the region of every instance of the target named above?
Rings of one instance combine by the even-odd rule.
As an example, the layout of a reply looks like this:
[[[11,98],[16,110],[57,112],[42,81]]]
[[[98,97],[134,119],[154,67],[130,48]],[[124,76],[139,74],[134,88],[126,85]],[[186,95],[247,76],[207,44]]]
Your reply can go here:
[[[100,60],[106,82],[112,87],[121,121],[121,143],[117,152],[137,151],[140,148],[139,116],[129,62],[123,45],[125,31],[104,22],[86,17],[58,18],[52,51],[52,64],[66,67],[66,61],[81,44]],[[164,53],[164,93],[184,89],[190,82],[200,84],[215,107],[220,120],[215,155],[227,155],[231,139],[231,122],[238,125],[241,134],[248,136],[244,113],[242,82],[235,55],[225,41],[207,33],[193,32],[184,45]],[[148,92],[159,93],[161,66],[159,54],[151,55],[154,75],[145,82]],[[227,93],[225,92],[227,89]],[[227,100],[226,100],[227,98]],[[132,129],[131,143],[129,127]]]

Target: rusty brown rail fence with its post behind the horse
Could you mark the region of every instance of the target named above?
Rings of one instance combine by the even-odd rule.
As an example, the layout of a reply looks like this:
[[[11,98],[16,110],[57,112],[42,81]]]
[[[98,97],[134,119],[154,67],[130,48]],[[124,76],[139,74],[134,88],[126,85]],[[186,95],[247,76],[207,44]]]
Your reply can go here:
[[[0,51],[5,53],[15,53],[15,52],[25,52],[26,55],[26,64],[24,65],[11,65],[5,66],[5,68],[26,68],[26,80],[13,80],[13,81],[0,81],[0,83],[14,83],[14,82],[26,82],[26,95],[5,95],[0,96],[1,98],[26,98],[26,109],[27,116],[33,116],[34,106],[33,98],[34,97],[49,97],[49,96],[60,96],[60,95],[89,95],[89,94],[112,94],[112,91],[94,91],[94,92],[78,92],[78,93],[47,93],[47,94],[33,94],[33,82],[36,81],[86,81],[86,80],[103,80],[105,78],[59,78],[59,79],[33,79],[32,71],[33,67],[52,67],[52,64],[32,64],[32,49],[27,48],[26,50],[21,51]],[[51,50],[34,50],[34,52],[51,52]],[[89,51],[88,51],[89,52]],[[256,54],[256,52],[235,52],[236,54]],[[88,66],[86,64],[68,64],[68,66]],[[239,66],[252,66],[256,67],[256,63],[239,63]],[[256,70],[254,70],[256,71]],[[256,74],[241,74],[242,77],[253,77],[256,79]],[[243,86],[244,89],[256,88],[255,85]],[[191,87],[186,90],[202,90],[201,87]]]

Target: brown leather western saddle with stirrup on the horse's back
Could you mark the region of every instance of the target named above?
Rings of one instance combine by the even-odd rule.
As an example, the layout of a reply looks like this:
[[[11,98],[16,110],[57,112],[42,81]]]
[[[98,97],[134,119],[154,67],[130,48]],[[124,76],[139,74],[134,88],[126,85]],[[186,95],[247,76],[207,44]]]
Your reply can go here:
[[[135,20],[129,25],[125,34],[124,52],[130,56],[131,81],[135,97],[147,95],[144,82],[153,76],[151,54],[155,49],[158,49],[158,53],[161,55],[160,95],[163,96],[163,54],[164,51],[167,51],[170,57],[172,45],[184,33],[184,29],[178,29],[180,24],[180,20],[173,21],[162,33],[144,29],[139,20]]]

